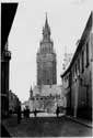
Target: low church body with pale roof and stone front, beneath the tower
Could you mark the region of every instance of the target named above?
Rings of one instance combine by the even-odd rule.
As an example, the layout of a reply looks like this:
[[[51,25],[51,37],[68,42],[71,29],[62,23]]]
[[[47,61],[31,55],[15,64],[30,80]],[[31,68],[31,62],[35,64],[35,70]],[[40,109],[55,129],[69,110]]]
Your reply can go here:
[[[40,94],[37,89],[37,92],[28,98],[28,107],[31,112],[37,109],[45,110],[47,113],[56,113],[57,106],[66,107],[66,97],[63,94],[61,94],[60,86],[58,87],[55,85],[51,86],[51,88],[46,86],[46,89],[44,86]]]

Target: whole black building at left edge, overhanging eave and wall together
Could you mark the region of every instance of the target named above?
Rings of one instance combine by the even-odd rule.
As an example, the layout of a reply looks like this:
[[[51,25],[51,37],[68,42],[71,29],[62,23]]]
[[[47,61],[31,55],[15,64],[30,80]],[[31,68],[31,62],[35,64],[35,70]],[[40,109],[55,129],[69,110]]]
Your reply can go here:
[[[8,38],[16,12],[18,3],[1,3],[1,117],[9,114],[9,70],[11,52],[8,50]],[[11,12],[12,11],[12,12]]]

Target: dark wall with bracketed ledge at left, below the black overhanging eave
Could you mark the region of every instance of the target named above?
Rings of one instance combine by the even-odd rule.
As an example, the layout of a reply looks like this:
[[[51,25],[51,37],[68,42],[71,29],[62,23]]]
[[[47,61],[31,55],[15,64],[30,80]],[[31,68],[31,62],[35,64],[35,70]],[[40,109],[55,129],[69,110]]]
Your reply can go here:
[[[9,112],[9,66],[11,53],[8,50],[8,42],[1,53],[1,115],[8,116]]]

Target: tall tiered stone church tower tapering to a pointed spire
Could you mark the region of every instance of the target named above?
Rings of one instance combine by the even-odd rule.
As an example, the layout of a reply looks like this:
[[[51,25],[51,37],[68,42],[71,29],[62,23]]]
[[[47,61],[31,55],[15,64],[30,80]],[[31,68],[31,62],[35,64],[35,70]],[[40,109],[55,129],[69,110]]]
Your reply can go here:
[[[47,14],[36,62],[37,85],[57,84],[56,53],[54,52],[54,42],[50,39],[50,28],[48,25]]]

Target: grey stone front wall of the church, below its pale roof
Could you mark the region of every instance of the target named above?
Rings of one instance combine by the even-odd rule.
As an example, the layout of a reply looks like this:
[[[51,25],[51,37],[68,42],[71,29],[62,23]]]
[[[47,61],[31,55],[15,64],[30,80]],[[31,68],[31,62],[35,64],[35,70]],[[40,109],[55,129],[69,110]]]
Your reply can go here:
[[[62,97],[63,98],[63,97]],[[63,106],[63,100],[61,95],[51,95],[48,96],[39,96],[35,95],[32,98],[33,102],[33,110],[36,108],[37,110],[45,110],[47,113],[56,113],[57,106]]]

